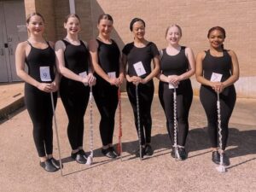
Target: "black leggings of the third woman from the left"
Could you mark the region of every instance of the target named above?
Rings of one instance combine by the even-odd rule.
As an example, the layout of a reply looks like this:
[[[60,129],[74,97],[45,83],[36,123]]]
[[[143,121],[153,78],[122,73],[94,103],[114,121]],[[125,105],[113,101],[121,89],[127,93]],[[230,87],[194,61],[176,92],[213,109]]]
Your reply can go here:
[[[97,81],[93,87],[96,106],[101,113],[100,133],[102,145],[113,143],[114,115],[118,106],[118,87]]]

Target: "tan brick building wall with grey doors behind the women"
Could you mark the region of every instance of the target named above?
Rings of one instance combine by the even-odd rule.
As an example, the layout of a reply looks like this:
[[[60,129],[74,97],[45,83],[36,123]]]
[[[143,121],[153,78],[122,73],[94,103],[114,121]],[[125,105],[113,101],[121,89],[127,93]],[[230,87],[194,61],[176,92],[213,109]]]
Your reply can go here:
[[[11,14],[8,15],[5,9],[13,9],[13,11],[10,11]],[[0,22],[3,28],[3,34],[0,33],[0,56],[2,57],[0,59],[0,81],[2,82],[18,80],[13,70],[15,44],[19,40],[26,39],[25,15],[33,11],[44,15],[45,38],[52,41],[65,37],[63,20],[70,12],[75,12],[80,16],[81,38],[84,40],[96,38],[97,17],[102,13],[108,13],[113,16],[113,38],[119,44],[120,49],[124,44],[132,41],[129,24],[134,17],[141,17],[145,20],[146,38],[157,44],[159,49],[166,46],[164,37],[166,27],[177,23],[183,28],[182,44],[191,47],[195,55],[201,50],[208,49],[208,29],[212,26],[223,26],[227,32],[224,47],[235,50],[240,62],[241,78],[236,83],[238,96],[256,98],[256,86],[253,84],[256,80],[256,0],[0,1]],[[10,18],[14,20],[15,17],[22,20],[10,21]],[[14,24],[13,28],[9,25],[11,23]],[[18,38],[9,37],[7,34],[13,37],[16,35]],[[12,59],[6,59],[7,55]],[[6,74],[11,75],[6,78]],[[195,94],[197,94],[200,84],[195,81],[195,78],[192,78],[192,82]]]

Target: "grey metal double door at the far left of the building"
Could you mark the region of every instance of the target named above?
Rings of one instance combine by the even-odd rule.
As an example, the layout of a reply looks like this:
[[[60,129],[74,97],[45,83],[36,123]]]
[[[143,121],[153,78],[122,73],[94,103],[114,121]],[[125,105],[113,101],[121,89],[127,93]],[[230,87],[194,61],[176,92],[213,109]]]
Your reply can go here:
[[[8,73],[7,81],[20,81],[15,69],[15,48],[17,44],[27,38],[24,2],[20,0],[3,1],[0,2],[0,6],[2,6],[0,12],[3,12],[3,25],[1,26],[3,27],[3,52]]]

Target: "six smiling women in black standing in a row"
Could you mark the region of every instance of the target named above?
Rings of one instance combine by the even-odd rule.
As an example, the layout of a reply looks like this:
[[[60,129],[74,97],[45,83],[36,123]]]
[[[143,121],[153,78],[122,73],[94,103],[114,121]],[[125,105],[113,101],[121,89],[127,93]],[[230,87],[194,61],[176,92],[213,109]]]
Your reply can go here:
[[[166,114],[166,127],[173,146],[171,155],[176,156],[176,147],[178,158],[185,160],[189,108],[193,99],[189,78],[193,74],[196,74],[196,79],[201,83],[200,98],[207,113],[212,161],[219,164],[220,153],[224,154],[228,139],[230,115],[236,102],[234,83],[239,78],[236,54],[223,47],[225,32],[222,27],[216,26],[209,30],[207,38],[210,49],[197,55],[195,67],[192,49],[179,44],[182,30],[177,25],[166,29],[167,46],[166,49],[159,50],[153,42],[144,38],[144,20],[134,18],[130,24],[134,39],[130,44],[125,44],[122,54],[118,45],[110,38],[113,29],[111,15],[100,15],[97,23],[99,34],[89,44],[79,39],[81,29],[78,15],[67,15],[64,22],[67,36],[55,44],[43,38],[42,15],[28,15],[26,26],[30,35],[25,42],[17,46],[16,70],[20,79],[26,82],[26,107],[32,119],[33,138],[40,166],[45,171],[55,172],[62,166],[52,155],[53,110],[50,95],[53,94],[56,105],[57,90],[60,91],[61,101],[67,113],[67,137],[72,148],[73,160],[85,164],[87,159],[83,149],[84,113],[89,102],[90,90],[101,114],[99,129],[102,154],[108,158],[118,156],[113,148],[114,116],[119,102],[118,90],[124,78],[127,81],[126,90],[140,137],[142,155],[154,153],[150,144],[150,111],[154,96],[153,78],[157,77],[160,79],[160,103]],[[25,63],[28,72],[25,70]],[[173,118],[174,91],[177,94],[177,132],[174,128],[176,120]],[[222,148],[218,148],[218,94],[223,129]]]

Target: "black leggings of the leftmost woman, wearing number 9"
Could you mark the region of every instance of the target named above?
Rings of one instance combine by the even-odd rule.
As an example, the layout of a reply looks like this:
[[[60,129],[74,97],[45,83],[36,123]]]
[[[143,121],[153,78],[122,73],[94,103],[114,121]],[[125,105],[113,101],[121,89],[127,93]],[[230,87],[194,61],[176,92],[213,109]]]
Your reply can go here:
[[[56,106],[57,93],[55,92],[53,96],[54,104]],[[38,151],[38,156],[44,157],[46,154],[52,154],[53,110],[50,93],[38,90],[31,84],[25,84],[25,102],[27,111],[32,119],[33,138]]]

